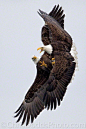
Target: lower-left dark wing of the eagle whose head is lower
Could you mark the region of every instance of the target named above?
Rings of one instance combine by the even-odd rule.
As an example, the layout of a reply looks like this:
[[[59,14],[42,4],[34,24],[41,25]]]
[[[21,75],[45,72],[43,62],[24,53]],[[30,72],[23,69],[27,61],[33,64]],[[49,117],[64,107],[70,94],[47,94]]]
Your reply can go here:
[[[44,109],[44,93],[42,92],[42,90],[40,91],[40,88],[48,79],[49,74],[49,69],[45,67],[43,67],[42,69],[42,67],[40,67],[38,63],[36,79],[31,88],[28,90],[21,106],[15,112],[15,117],[18,117],[17,122],[19,122],[20,119],[23,117],[22,125],[26,121],[27,126],[29,124],[30,118],[31,122],[33,122],[34,118],[36,118],[39,115],[39,113]]]

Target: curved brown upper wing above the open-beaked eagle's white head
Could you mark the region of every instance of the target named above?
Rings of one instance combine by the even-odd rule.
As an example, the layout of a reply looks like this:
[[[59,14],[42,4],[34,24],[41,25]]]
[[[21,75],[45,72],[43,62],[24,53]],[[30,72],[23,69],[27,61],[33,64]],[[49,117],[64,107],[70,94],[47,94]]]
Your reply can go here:
[[[55,18],[48,15],[47,13],[39,10],[39,15],[44,19],[47,28],[49,28],[49,39],[50,43],[56,41],[65,41],[69,44],[69,48],[72,46],[71,36],[61,27],[58,21]],[[43,41],[44,43],[44,41]],[[45,44],[45,43],[44,43]]]

